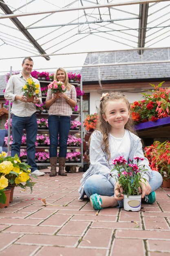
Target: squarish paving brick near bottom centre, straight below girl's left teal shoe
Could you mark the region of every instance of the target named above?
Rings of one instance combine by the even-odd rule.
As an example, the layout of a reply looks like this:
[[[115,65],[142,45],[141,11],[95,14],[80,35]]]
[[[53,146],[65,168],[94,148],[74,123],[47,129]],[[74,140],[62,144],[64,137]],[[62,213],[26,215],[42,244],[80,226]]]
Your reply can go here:
[[[88,229],[79,247],[108,249],[113,235],[112,229]]]

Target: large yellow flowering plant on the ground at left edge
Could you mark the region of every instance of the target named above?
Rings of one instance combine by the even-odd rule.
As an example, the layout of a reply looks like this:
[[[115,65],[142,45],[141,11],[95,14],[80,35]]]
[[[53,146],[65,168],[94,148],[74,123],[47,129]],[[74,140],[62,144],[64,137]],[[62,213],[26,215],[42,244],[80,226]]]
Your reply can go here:
[[[0,203],[4,204],[6,202],[3,191],[8,186],[20,186],[22,189],[29,186],[32,192],[35,182],[32,182],[29,176],[31,174],[30,167],[25,162],[22,163],[18,155],[11,157],[7,156],[6,152],[0,154]],[[35,175],[32,176],[36,177]]]

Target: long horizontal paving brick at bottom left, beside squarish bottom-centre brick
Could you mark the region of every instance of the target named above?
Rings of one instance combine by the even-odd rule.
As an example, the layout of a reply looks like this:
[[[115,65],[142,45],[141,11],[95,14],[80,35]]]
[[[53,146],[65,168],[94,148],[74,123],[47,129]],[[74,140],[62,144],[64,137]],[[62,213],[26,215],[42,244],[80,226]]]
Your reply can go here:
[[[76,236],[25,235],[15,244],[75,247],[78,240],[79,237]]]

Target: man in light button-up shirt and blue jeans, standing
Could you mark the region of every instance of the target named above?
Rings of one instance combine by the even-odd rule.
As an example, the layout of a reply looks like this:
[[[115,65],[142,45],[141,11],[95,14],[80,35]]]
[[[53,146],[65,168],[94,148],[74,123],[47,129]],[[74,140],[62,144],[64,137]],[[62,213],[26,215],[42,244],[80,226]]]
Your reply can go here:
[[[15,154],[20,156],[20,146],[22,141],[23,129],[26,131],[26,153],[27,162],[31,166],[31,173],[36,176],[42,176],[45,173],[38,170],[35,163],[35,141],[38,132],[36,118],[36,103],[42,103],[41,90],[40,98],[35,96],[34,102],[27,102],[27,98],[23,95],[22,88],[26,84],[28,78],[39,84],[39,81],[31,76],[33,69],[33,60],[30,57],[24,58],[22,61],[22,72],[10,77],[5,90],[4,97],[13,101],[12,112],[12,137],[11,156]],[[40,89],[40,88],[39,88]]]

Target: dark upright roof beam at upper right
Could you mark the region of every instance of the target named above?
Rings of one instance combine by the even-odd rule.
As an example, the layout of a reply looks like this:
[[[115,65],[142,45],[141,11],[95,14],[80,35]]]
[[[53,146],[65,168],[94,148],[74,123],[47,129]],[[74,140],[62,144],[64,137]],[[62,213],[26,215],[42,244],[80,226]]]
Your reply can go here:
[[[148,19],[148,8],[149,4],[140,4],[139,7],[139,36],[138,36],[138,48],[145,46],[146,39],[146,26]],[[142,54],[143,51],[139,51]]]

